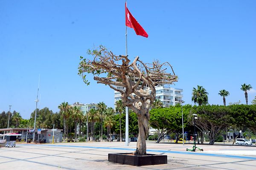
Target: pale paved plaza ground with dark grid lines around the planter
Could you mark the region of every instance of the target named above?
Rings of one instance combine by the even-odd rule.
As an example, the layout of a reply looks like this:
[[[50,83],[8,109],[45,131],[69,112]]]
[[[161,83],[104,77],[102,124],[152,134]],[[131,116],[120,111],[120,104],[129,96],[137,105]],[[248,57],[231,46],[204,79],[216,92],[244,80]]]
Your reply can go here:
[[[147,153],[168,156],[168,164],[134,167],[108,162],[108,153],[130,153],[136,142],[77,142],[17,144],[0,149],[0,170],[256,170],[255,146],[200,145],[204,152],[190,152],[192,144],[147,143]]]

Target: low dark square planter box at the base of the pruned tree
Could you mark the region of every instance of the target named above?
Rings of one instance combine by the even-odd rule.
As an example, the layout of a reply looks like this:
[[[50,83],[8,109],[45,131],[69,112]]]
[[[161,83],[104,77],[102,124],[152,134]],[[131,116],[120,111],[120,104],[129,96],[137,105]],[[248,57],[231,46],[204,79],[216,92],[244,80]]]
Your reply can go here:
[[[147,154],[146,156],[134,156],[131,154],[132,153],[108,153],[108,161],[134,166],[167,164],[167,155]]]

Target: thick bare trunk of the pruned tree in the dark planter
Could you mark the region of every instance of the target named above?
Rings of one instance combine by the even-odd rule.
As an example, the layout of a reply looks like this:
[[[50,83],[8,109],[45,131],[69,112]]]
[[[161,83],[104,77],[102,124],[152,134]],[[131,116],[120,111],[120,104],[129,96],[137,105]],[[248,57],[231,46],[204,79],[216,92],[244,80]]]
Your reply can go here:
[[[143,111],[146,111],[146,113],[143,113]],[[138,116],[139,136],[137,141],[137,148],[133,154],[142,156],[147,154],[146,136],[148,134],[148,125],[149,125],[148,111],[141,110],[140,113],[137,113],[137,116]]]

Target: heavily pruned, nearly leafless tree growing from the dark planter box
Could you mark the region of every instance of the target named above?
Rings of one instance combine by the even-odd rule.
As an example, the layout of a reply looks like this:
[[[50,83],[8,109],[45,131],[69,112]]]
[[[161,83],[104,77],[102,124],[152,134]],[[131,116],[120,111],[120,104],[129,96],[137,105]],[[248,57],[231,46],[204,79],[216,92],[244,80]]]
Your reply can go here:
[[[93,51],[88,50],[88,54],[94,58],[90,60],[80,57],[79,75],[89,85],[86,74],[93,74],[97,83],[108,85],[122,94],[123,105],[133,110],[138,117],[139,136],[134,155],[146,155],[148,111],[155,100],[155,86],[177,81],[172,66],[169,62],[160,63],[158,60],[151,64],[144,63],[138,56],[131,62],[128,56],[116,56],[103,46]],[[172,74],[167,73],[168,68]],[[117,86],[124,87],[125,91]]]

